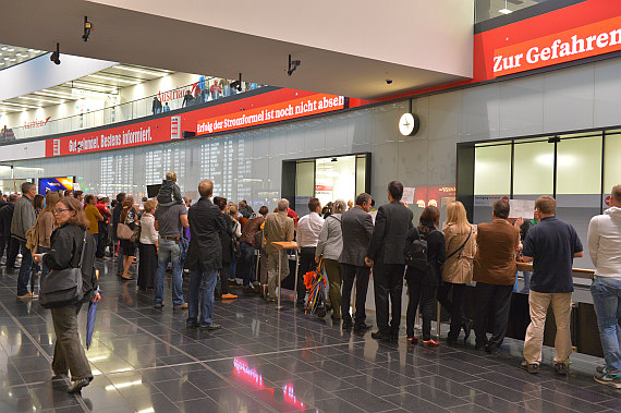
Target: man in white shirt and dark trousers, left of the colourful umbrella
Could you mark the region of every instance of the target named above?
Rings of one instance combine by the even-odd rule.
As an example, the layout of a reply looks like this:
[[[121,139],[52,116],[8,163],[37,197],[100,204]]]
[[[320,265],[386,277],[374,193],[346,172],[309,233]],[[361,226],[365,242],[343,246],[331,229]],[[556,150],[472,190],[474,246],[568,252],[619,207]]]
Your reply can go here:
[[[297,306],[301,308],[304,307],[304,297],[306,296],[304,275],[314,269],[319,232],[321,232],[321,228],[324,228],[324,218],[319,216],[319,212],[321,212],[321,203],[319,199],[308,199],[308,210],[310,214],[300,218],[297,222],[297,247],[300,248]]]

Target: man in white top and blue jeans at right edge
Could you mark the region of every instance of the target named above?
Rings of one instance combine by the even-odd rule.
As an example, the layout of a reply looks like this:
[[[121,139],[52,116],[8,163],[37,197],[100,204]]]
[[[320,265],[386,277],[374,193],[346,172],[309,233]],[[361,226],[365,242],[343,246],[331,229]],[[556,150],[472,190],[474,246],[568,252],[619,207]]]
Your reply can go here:
[[[621,389],[621,185],[612,187],[610,208],[588,224],[588,253],[595,265],[590,294],[606,362],[594,379]]]

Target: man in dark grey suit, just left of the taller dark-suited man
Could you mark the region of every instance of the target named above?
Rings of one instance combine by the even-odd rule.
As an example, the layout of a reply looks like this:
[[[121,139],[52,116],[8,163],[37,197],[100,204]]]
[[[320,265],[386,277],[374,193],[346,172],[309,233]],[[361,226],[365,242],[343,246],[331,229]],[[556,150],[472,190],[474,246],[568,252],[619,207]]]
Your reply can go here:
[[[360,194],[356,198],[356,205],[344,212],[341,218],[343,251],[339,258],[339,263],[342,264],[344,269],[341,301],[343,330],[352,328],[350,304],[354,279],[356,281],[354,331],[365,331],[370,328],[370,326],[365,323],[365,303],[370,268],[367,267],[364,262],[368,243],[373,236],[373,219],[368,214],[370,210],[370,203],[372,197],[369,194]]]

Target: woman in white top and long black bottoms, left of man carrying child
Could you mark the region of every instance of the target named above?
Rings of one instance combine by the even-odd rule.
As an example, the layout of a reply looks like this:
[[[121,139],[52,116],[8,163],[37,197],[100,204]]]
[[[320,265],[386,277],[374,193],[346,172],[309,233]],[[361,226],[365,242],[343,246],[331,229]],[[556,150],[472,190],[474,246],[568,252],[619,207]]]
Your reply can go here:
[[[154,288],[155,275],[157,271],[157,248],[158,235],[155,229],[154,211],[155,201],[147,201],[144,204],[145,211],[141,218],[141,242],[138,251],[141,260],[138,262],[138,290]]]

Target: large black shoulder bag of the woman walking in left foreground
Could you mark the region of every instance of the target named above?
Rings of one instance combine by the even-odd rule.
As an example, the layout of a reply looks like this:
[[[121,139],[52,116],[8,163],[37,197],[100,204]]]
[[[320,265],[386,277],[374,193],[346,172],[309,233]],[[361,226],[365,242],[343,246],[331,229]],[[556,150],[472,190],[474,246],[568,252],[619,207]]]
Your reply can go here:
[[[86,231],[82,242],[82,254],[76,268],[54,269],[44,279],[39,303],[44,308],[76,304],[84,299],[82,289],[82,262],[86,250]]]

